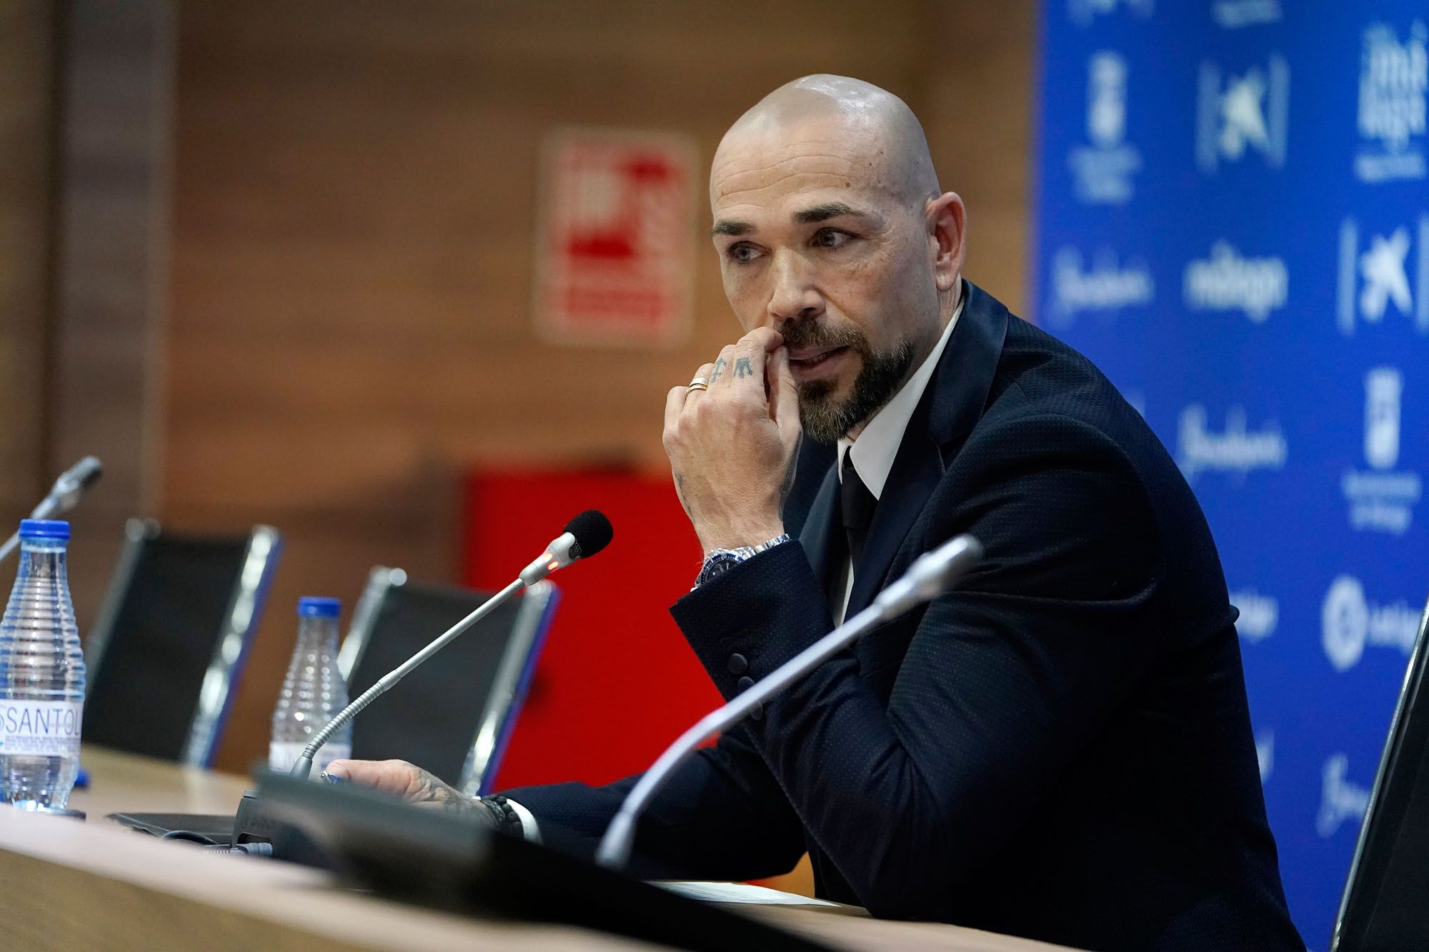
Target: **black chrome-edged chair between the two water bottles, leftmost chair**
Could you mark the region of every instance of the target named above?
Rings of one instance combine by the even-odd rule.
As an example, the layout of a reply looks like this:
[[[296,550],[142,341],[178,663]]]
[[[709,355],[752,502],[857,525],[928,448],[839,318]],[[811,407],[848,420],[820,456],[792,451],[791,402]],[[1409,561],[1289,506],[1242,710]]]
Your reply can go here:
[[[86,643],[84,740],[211,766],[283,536],[181,536],[124,526]]]

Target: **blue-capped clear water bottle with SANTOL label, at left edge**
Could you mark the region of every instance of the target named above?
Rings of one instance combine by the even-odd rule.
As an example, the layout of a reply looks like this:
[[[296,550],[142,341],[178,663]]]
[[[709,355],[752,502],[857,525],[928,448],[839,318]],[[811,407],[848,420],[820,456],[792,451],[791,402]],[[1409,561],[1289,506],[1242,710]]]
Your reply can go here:
[[[64,550],[70,523],[20,523],[20,573],[0,619],[0,802],[64,809],[80,768],[84,653]]]

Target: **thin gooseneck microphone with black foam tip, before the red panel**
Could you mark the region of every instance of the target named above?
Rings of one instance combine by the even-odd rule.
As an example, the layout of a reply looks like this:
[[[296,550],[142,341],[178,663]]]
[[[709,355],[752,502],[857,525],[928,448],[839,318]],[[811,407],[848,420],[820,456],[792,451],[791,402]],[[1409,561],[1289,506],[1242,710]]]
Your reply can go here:
[[[292,776],[307,779],[313,772],[313,758],[343,725],[356,718],[362,710],[387,693],[399,680],[406,678],[417,665],[436,655],[453,638],[472,628],[490,615],[496,606],[512,598],[522,589],[536,585],[556,569],[563,569],[577,559],[589,559],[607,545],[614,535],[610,520],[596,509],[587,509],[569,523],[566,530],[556,536],[536,559],[532,560],[522,573],[504,589],[489,598],[479,609],[463,618],[460,622],[443,632],[436,640],[420,652],[397,665],[377,680],[376,685],[362,692],[356,700],[339,710],[332,720],[323,725],[309,745],[303,749],[297,763],[293,765]]]

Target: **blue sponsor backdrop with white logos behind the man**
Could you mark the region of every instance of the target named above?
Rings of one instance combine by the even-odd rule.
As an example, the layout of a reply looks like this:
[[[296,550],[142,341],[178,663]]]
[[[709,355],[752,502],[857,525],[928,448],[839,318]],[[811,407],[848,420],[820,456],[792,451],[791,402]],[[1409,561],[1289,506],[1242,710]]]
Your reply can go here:
[[[1328,945],[1429,593],[1423,0],[1047,0],[1039,322],[1200,497]]]

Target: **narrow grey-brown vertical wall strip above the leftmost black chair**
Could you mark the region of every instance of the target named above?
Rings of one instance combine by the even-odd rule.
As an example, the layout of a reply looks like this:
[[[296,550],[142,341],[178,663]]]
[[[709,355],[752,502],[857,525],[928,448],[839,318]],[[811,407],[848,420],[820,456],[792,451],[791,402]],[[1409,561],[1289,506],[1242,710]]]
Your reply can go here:
[[[86,455],[104,477],[70,516],[87,632],[124,520],[159,505],[169,263],[170,0],[79,0],[59,31],[59,213],[46,486]]]

